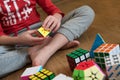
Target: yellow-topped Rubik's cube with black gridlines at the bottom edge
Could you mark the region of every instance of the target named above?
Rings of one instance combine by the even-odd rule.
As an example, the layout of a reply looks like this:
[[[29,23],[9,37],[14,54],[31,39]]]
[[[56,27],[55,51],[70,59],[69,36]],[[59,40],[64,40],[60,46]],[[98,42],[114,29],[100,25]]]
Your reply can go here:
[[[52,80],[55,74],[49,70],[42,69],[34,75],[29,77],[29,80]]]

